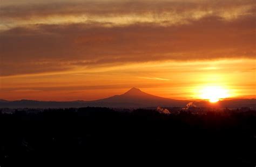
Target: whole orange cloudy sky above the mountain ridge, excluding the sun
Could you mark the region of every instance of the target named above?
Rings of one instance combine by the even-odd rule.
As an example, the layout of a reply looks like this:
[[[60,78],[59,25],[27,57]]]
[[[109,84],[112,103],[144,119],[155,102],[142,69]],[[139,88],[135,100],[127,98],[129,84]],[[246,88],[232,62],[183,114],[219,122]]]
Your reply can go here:
[[[254,0],[1,0],[0,99],[256,98],[255,20]]]

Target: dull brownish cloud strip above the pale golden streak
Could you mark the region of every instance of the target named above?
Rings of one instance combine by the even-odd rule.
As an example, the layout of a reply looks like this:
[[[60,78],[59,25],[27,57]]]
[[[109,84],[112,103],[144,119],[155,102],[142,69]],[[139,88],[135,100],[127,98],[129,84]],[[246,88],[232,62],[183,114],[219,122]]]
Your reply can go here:
[[[231,8],[255,5],[253,0],[225,1],[85,1],[85,2],[56,2],[30,3],[23,5],[2,5],[1,18],[31,18],[52,15],[89,14],[105,16],[120,14],[143,14],[153,12],[182,13],[189,10],[228,10]],[[129,8],[127,8],[129,7]],[[218,11],[218,10],[217,10]]]

